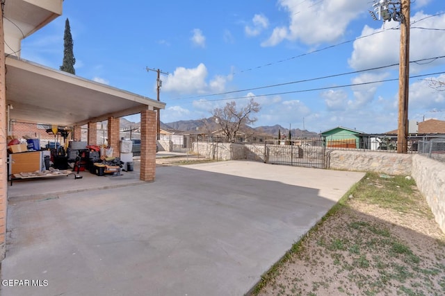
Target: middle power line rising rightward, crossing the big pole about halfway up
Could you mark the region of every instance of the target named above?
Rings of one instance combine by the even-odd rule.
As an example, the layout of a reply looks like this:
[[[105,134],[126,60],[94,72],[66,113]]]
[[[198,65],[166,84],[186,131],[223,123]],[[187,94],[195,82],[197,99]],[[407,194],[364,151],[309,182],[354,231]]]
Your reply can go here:
[[[428,63],[437,60],[439,58],[445,58],[445,55],[441,55],[441,56],[437,56],[435,58],[424,58],[421,60],[415,60],[412,61],[416,64],[418,64],[419,62],[423,62],[423,61],[429,61]],[[430,61],[432,60],[432,61]],[[410,63],[412,63],[410,62]],[[426,63],[427,64],[427,63]],[[279,84],[275,84],[275,85],[266,85],[266,86],[262,86],[262,87],[252,87],[250,89],[240,89],[240,90],[235,90],[235,91],[231,91],[231,92],[221,92],[218,94],[207,94],[207,95],[200,95],[200,96],[189,96],[186,98],[175,98],[176,100],[179,99],[190,99],[190,98],[204,98],[204,97],[209,97],[209,96],[222,96],[224,94],[235,94],[237,92],[249,92],[252,90],[258,90],[258,89],[265,89],[265,88],[270,88],[270,87],[280,87],[280,86],[284,86],[284,85],[291,85],[291,84],[296,84],[296,83],[301,83],[301,82],[309,82],[309,81],[315,81],[315,80],[321,80],[321,79],[326,79],[326,78],[334,78],[334,77],[339,77],[339,76],[346,76],[346,75],[351,75],[351,74],[357,74],[357,73],[362,73],[362,72],[366,72],[366,71],[374,71],[374,70],[379,70],[379,69],[385,69],[385,68],[389,68],[389,67],[395,67],[397,66],[398,63],[396,64],[389,64],[387,66],[381,66],[381,67],[375,67],[375,68],[370,68],[370,69],[364,69],[364,70],[359,70],[359,71],[351,71],[351,72],[346,72],[346,73],[339,73],[339,74],[332,74],[329,76],[322,76],[322,77],[317,77],[317,78],[309,78],[309,79],[304,79],[304,80],[296,80],[296,81],[291,81],[291,82],[284,82],[284,83],[279,83]]]

